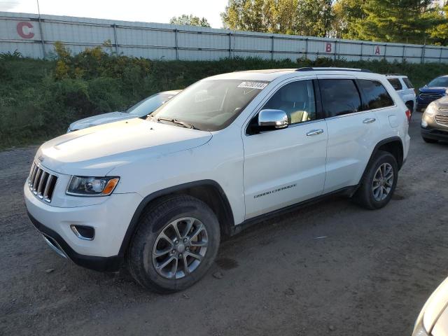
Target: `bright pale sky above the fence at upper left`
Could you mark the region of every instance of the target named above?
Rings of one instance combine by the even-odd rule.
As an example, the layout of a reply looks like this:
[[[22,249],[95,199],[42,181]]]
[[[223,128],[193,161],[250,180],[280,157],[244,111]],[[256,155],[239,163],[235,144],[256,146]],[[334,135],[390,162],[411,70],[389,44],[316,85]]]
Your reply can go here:
[[[125,21],[169,23],[173,16],[193,14],[221,28],[220,13],[228,0],[38,0],[41,14]],[[0,0],[0,11],[37,13],[36,0]]]

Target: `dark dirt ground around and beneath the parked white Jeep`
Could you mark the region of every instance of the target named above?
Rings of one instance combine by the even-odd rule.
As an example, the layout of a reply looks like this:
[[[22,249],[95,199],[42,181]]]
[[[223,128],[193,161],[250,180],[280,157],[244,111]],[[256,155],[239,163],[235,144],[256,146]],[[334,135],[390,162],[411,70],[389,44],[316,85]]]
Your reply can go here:
[[[386,208],[332,198],[255,225],[174,295],[53,253],[22,197],[36,148],[0,153],[0,335],[410,335],[448,276],[448,144],[423,143],[420,116]]]

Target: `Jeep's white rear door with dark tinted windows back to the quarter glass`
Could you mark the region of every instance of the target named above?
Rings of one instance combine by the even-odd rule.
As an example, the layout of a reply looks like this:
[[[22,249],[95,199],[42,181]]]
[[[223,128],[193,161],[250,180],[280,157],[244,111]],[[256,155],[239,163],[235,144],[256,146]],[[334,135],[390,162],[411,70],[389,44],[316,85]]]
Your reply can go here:
[[[324,193],[356,186],[380,134],[372,109],[393,104],[381,83],[318,76],[328,127]],[[384,93],[386,92],[386,93]]]

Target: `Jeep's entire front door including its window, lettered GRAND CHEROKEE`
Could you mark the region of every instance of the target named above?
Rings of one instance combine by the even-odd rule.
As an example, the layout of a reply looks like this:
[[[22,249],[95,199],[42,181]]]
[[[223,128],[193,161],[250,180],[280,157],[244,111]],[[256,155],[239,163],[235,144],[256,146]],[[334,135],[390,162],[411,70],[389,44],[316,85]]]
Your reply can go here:
[[[252,130],[251,135],[242,134],[246,218],[307,200],[323,191],[327,126],[320,104],[316,104],[314,92],[318,84],[314,78],[281,85],[262,107],[284,111],[287,128],[259,133],[257,113],[247,129]]]

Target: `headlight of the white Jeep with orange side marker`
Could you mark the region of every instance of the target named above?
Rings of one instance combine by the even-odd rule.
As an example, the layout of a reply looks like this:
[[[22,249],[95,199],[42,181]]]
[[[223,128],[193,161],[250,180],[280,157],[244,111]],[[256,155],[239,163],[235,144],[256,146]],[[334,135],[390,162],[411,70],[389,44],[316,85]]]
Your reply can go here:
[[[119,177],[71,176],[67,195],[107,196],[111,195],[120,180]]]

